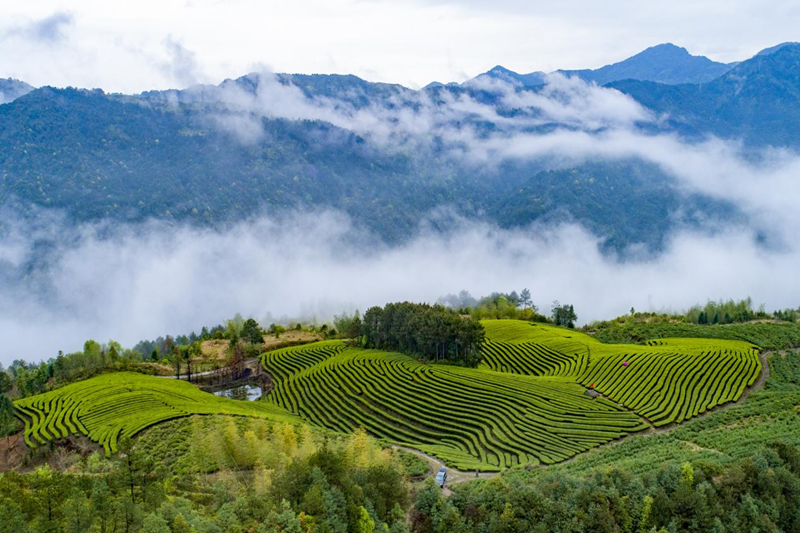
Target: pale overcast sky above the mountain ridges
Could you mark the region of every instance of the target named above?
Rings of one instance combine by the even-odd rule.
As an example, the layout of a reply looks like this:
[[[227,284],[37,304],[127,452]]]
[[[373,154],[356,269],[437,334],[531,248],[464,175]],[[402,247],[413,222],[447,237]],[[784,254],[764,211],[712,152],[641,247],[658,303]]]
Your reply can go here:
[[[131,93],[267,67],[417,88],[496,64],[596,68],[661,42],[729,62],[798,27],[796,0],[30,0],[0,3],[0,77]]]

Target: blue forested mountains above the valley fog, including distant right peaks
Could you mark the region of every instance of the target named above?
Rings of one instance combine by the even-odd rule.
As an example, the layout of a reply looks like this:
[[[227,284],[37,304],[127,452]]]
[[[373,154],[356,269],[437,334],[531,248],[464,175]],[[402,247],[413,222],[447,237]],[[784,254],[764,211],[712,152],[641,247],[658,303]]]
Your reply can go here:
[[[715,135],[793,149],[800,45],[766,50],[730,70],[662,45],[592,71],[594,78],[580,76],[677,83],[723,67],[707,83],[609,87],[652,113],[644,122],[631,115],[626,127],[638,135],[676,134],[685,142]],[[658,247],[677,223],[740,216],[720,201],[678,193],[673,176],[635,155],[493,157],[514,135],[603,135],[613,127],[541,104],[592,102],[586,91],[605,89],[531,88],[504,76],[500,88],[421,91],[355,76],[283,74],[136,96],[45,87],[0,106],[0,202],[59,208],[76,221],[156,217],[212,226],[324,207],[387,242],[452,208],[504,227],[577,221],[618,249]],[[540,107],[525,107],[528,101]]]

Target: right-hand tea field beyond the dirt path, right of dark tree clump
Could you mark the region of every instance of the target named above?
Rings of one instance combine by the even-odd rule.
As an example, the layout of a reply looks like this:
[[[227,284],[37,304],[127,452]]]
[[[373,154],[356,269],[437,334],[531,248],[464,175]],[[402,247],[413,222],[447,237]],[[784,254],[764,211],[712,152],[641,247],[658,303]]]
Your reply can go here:
[[[574,378],[654,426],[738,399],[761,371],[758,348],[742,341],[659,339],[637,346],[603,344],[577,331],[515,320],[487,320],[484,326],[486,368]],[[532,358],[537,351],[547,358]],[[558,365],[542,370],[548,361]]]

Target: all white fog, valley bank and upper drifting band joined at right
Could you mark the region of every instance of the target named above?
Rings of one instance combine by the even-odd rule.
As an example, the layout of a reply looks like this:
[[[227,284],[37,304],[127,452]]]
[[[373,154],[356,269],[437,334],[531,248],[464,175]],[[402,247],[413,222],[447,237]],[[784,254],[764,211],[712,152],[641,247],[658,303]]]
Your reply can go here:
[[[555,299],[568,302],[581,322],[631,307],[680,310],[707,298],[800,305],[795,154],[745,158],[735,143],[644,134],[638,123],[662,117],[616,91],[560,76],[535,94],[483,82],[497,93],[497,106],[419,94],[410,104],[398,96],[392,106],[355,107],[309,98],[268,78],[254,93],[226,89],[221,100],[232,112],[217,120],[243,142],[258,142],[260,116],[326,120],[384,147],[423,146],[435,135],[472,165],[638,158],[662,167],[682,191],[731,202],[746,220],[679,230],[657,256],[631,249],[621,259],[601,253],[602,236],[577,224],[504,230],[456,214],[459,221],[444,232],[423,223],[404,244],[387,247],[331,211],[211,230],[158,221],[76,227],[53,211],[26,218],[7,207],[0,211],[0,361],[52,357],[88,338],[131,346],[199,331],[237,312],[265,326],[281,317],[322,321],[343,310],[435,301],[461,289],[478,296],[528,287],[542,310]],[[509,118],[504,109],[519,112]],[[482,121],[498,125],[496,133],[481,134]]]

